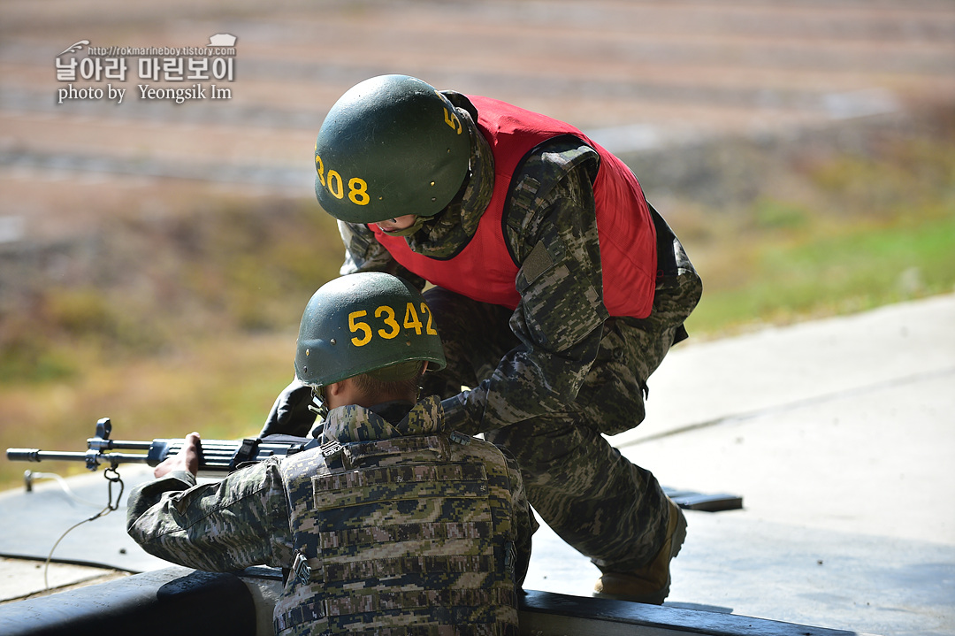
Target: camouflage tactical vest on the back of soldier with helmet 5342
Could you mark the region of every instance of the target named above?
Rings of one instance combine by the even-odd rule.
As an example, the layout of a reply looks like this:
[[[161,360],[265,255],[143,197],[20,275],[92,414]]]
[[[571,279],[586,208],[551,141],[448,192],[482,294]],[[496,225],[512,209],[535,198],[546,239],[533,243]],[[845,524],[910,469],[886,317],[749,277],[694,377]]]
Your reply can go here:
[[[500,451],[457,434],[331,445],[282,464],[297,556],[276,633],[517,635]]]

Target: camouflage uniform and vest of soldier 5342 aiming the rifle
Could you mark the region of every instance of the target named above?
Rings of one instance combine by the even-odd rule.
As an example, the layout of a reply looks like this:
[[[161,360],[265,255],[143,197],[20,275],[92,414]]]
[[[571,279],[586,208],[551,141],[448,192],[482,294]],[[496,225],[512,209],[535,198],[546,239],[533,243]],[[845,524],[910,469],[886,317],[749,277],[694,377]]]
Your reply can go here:
[[[290,568],[279,634],[517,634],[536,524],[516,462],[441,433],[436,397],[403,413],[341,407],[322,449],[188,490],[187,473],[140,486],[129,534],[190,567]]]

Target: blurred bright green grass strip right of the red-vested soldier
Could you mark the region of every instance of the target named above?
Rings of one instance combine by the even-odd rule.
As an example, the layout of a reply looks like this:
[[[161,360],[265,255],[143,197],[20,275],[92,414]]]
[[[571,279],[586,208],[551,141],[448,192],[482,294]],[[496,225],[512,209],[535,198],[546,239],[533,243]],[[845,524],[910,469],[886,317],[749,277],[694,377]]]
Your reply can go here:
[[[755,248],[743,283],[707,286],[688,328],[724,333],[753,323],[859,311],[955,289],[955,214],[856,227]]]

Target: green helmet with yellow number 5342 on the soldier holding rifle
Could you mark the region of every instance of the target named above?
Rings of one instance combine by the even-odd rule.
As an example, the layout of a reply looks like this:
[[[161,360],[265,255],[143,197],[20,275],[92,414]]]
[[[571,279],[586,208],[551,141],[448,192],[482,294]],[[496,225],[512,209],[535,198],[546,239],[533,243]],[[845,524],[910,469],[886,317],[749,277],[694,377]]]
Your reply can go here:
[[[444,349],[424,296],[391,274],[336,278],[316,291],[299,327],[295,376],[324,387],[368,373],[410,379],[421,361],[445,366]]]

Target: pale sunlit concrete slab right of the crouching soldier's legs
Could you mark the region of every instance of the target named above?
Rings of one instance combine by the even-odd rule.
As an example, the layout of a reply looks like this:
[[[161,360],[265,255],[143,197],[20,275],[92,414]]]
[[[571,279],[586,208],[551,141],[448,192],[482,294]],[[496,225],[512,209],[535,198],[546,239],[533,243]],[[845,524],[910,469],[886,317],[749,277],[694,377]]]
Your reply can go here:
[[[955,296],[688,341],[613,441],[688,511],[668,603],[875,634],[955,634]],[[527,587],[597,569],[542,529]]]

